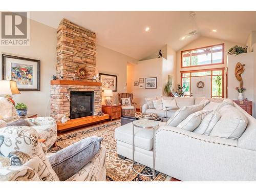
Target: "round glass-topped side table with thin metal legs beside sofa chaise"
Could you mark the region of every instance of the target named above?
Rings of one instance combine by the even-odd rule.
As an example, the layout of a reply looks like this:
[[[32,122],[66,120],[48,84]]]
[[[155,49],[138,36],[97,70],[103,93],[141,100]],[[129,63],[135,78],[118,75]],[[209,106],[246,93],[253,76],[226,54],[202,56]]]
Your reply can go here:
[[[135,168],[134,168],[134,127],[138,127],[138,128],[141,128],[141,129],[153,129],[153,174],[152,175],[144,175],[144,174],[141,174],[141,173],[138,173]],[[133,121],[133,170],[141,175],[141,176],[146,176],[146,177],[155,177],[155,160],[156,160],[156,157],[155,157],[155,131],[156,129],[159,127],[159,122],[158,121],[154,121],[154,120],[147,120],[147,119],[139,119],[139,120],[136,120],[136,121]]]

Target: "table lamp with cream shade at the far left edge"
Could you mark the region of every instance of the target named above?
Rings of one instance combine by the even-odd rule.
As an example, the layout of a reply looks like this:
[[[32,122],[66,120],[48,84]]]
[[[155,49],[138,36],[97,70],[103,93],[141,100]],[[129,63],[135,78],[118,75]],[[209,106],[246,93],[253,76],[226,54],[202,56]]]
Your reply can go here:
[[[20,94],[17,88],[16,81],[13,80],[0,80],[0,95],[5,95],[5,98],[9,99],[13,105],[15,105],[14,100],[12,100],[11,95]]]

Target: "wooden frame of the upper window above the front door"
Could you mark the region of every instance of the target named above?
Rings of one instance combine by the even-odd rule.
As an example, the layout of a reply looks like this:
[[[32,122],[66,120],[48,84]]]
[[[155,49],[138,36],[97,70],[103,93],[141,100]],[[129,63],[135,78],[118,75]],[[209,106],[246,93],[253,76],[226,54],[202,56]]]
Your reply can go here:
[[[191,66],[191,55],[190,55],[190,66],[182,66],[182,63],[183,63],[183,57],[182,57],[182,53],[183,52],[192,52],[192,51],[196,51],[196,50],[199,50],[199,49],[204,49],[204,48],[211,48],[212,50],[212,47],[216,47],[216,46],[222,46],[222,60],[221,62],[219,63],[208,63],[208,64],[204,64],[204,65],[198,65],[198,66]],[[187,49],[187,50],[183,50],[181,51],[181,54],[180,54],[180,67],[181,68],[193,68],[193,67],[201,67],[201,66],[215,66],[215,65],[222,65],[224,64],[224,49],[225,49],[225,45],[224,43],[223,44],[216,44],[216,45],[211,45],[211,46],[204,46],[204,47],[199,47],[199,48],[193,48],[193,49]],[[212,52],[211,52],[211,55],[212,55]],[[212,61],[211,61],[212,62]]]

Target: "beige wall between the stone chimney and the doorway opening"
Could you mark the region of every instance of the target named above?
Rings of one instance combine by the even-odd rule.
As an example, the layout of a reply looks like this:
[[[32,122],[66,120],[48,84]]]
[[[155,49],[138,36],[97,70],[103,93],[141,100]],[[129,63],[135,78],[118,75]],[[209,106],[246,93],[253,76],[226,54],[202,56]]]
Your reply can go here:
[[[113,92],[113,103],[116,104],[118,104],[117,93],[126,93],[127,62],[137,63],[137,60],[96,45],[96,73],[117,75],[117,92]],[[102,97],[102,104],[104,104],[104,97]]]

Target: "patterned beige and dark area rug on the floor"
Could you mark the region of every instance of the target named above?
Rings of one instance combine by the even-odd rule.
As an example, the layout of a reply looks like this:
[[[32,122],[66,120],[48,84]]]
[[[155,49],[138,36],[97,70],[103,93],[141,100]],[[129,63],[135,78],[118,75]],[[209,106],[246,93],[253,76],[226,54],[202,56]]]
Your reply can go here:
[[[132,160],[122,160],[116,153],[115,129],[121,126],[121,120],[107,122],[101,125],[84,128],[83,130],[60,135],[57,137],[56,146],[50,152],[57,152],[83,138],[90,136],[103,137],[102,145],[106,147],[106,181],[169,181],[170,177],[156,172],[156,177],[144,177],[132,169]],[[136,170],[145,175],[151,175],[153,169],[142,164],[135,164]]]

